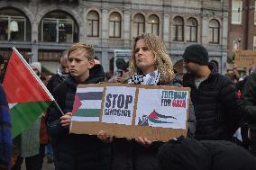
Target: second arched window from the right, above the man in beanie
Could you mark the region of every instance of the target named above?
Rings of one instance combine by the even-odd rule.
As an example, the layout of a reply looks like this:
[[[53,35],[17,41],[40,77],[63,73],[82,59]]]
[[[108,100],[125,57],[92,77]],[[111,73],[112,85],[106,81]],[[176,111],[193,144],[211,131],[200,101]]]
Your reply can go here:
[[[187,42],[197,42],[197,20],[195,18],[187,19]]]

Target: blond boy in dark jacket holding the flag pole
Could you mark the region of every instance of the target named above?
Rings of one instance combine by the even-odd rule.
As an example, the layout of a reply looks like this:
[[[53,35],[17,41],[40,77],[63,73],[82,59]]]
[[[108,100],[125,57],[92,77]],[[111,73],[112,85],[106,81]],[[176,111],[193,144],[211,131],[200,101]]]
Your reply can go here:
[[[62,112],[50,108],[49,134],[54,137],[53,145],[58,170],[99,170],[110,168],[110,138],[99,135],[69,134],[72,108],[78,84],[96,84],[104,81],[104,71],[95,67],[94,49],[87,43],[76,43],[69,49],[69,76],[54,89]],[[55,124],[54,124],[55,123]]]

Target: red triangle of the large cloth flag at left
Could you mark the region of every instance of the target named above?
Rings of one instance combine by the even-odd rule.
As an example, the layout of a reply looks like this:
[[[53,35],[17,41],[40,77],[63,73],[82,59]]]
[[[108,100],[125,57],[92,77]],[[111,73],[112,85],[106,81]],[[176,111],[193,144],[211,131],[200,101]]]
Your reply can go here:
[[[14,50],[5,73],[3,87],[8,103],[51,101],[50,95]]]

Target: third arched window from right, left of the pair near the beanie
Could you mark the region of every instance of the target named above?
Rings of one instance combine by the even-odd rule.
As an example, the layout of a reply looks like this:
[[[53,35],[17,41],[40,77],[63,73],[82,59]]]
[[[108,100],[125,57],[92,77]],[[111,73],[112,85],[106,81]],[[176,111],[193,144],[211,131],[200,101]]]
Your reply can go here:
[[[173,40],[184,40],[184,21],[180,16],[176,16],[173,19]]]

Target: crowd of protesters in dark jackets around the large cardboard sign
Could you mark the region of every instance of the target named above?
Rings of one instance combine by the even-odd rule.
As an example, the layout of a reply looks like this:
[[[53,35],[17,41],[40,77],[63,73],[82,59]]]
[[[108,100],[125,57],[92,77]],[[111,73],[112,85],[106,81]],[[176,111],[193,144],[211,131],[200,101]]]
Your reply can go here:
[[[75,43],[64,51],[58,73],[49,81],[41,74],[41,63],[31,63],[59,106],[53,103],[13,141],[8,104],[0,88],[0,169],[20,170],[24,159],[28,170],[41,170],[45,155],[56,170],[255,169],[254,69],[244,80],[234,82],[233,76],[218,73],[204,46],[193,44],[182,56],[187,73],[181,76],[163,40],[150,33],[136,37],[132,51],[129,68],[108,80],[88,43]],[[69,134],[77,86],[105,81],[190,87],[187,136],[165,143],[144,137],[114,138],[104,130],[97,135]],[[239,129],[242,141],[234,137]]]

